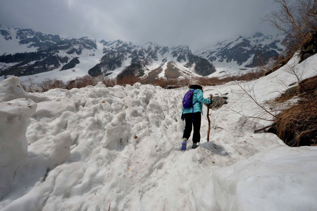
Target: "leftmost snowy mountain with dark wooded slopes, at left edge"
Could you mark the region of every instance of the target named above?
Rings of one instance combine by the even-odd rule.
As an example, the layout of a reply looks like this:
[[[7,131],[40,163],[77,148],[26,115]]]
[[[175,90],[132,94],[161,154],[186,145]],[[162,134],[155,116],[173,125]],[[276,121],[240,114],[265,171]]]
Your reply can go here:
[[[92,54],[97,48],[96,40],[90,37],[74,39],[3,25],[0,33],[0,76],[60,70],[72,57]]]

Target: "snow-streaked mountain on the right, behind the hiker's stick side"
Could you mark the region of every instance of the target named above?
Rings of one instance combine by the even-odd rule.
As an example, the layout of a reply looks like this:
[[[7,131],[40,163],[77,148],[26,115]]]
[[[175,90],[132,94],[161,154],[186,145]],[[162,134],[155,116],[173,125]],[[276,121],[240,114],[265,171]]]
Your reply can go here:
[[[209,48],[196,51],[194,54],[204,57],[217,67],[256,67],[260,58],[269,58],[281,53],[285,35],[263,35],[260,32],[252,37],[237,35]]]

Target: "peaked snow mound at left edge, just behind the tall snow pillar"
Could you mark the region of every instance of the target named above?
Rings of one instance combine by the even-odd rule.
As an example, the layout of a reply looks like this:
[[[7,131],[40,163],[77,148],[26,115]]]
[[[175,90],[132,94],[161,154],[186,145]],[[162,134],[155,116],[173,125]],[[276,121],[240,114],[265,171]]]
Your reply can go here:
[[[17,98],[30,98],[34,102],[50,101],[48,97],[37,96],[25,92],[16,76],[11,76],[0,83],[0,102],[6,102]]]

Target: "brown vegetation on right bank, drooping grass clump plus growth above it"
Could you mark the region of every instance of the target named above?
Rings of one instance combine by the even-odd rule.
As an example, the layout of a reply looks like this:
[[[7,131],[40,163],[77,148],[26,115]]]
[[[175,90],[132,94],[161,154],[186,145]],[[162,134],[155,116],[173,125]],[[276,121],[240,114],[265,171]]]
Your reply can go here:
[[[301,101],[283,110],[276,119],[276,135],[288,146],[314,146],[317,142],[317,76],[307,78],[283,93],[276,102],[285,102],[293,96],[301,96]]]

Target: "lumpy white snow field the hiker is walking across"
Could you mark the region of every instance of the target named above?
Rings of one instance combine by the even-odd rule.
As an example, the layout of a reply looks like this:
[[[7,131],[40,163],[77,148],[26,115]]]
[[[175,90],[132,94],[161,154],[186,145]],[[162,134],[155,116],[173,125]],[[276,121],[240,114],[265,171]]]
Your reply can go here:
[[[316,59],[297,65],[307,68],[303,78],[316,75]],[[260,102],[278,95],[278,77],[294,81],[281,68],[251,82]],[[6,79],[1,92],[9,93],[1,86],[8,80],[16,85]],[[190,138],[185,152],[180,115],[186,88],[99,83],[37,93],[49,101],[2,102],[0,149],[13,152],[27,140],[27,153],[26,146],[19,152],[28,157],[9,167],[0,160],[1,176],[11,168],[0,210],[316,210],[317,147],[290,148],[274,134],[254,133],[265,122],[232,126],[240,116],[229,106],[254,106],[241,103],[235,89],[233,82],[204,88],[205,97],[228,92],[229,103],[212,111],[208,143],[202,116],[200,146],[191,149]],[[35,112],[23,110],[25,103],[37,106]]]

